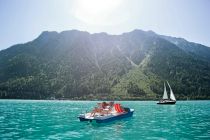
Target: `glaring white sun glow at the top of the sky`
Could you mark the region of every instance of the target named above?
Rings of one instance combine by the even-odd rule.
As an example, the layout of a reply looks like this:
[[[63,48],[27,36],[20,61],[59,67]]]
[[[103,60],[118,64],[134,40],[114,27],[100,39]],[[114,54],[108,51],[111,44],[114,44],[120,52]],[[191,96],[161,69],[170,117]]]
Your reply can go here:
[[[112,25],[121,21],[119,8],[122,0],[77,0],[74,15],[92,25]]]

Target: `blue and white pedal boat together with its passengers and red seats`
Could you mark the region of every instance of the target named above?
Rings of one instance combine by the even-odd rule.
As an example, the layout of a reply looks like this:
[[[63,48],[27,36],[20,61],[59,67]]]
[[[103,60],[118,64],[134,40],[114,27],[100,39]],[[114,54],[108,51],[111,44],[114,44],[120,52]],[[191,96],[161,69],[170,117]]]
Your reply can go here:
[[[95,107],[91,112],[80,114],[78,118],[80,121],[95,121],[96,123],[106,123],[114,120],[119,120],[133,116],[134,109],[122,107],[120,104],[110,103],[98,103],[98,107]]]

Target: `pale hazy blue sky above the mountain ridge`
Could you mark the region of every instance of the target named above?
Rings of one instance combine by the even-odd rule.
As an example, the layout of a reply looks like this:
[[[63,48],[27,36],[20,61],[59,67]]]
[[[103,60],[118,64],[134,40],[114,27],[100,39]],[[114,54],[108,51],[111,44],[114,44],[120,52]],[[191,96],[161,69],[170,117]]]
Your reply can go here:
[[[210,0],[0,0],[0,50],[71,29],[153,30],[210,46]]]

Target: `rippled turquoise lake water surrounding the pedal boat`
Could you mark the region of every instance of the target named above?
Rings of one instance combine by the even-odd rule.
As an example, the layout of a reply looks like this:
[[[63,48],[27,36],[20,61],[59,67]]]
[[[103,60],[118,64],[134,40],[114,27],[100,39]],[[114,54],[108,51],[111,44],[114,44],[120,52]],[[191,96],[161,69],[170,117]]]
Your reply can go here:
[[[91,101],[0,100],[0,139],[210,139],[210,101],[123,101],[129,119],[109,124],[79,122]]]

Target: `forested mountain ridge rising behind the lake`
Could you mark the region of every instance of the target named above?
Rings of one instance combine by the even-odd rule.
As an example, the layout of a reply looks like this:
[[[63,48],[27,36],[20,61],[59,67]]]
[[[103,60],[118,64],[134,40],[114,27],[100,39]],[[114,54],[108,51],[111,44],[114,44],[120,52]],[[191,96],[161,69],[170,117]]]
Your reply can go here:
[[[43,32],[0,51],[0,98],[210,99],[210,48],[134,30],[121,35]]]

